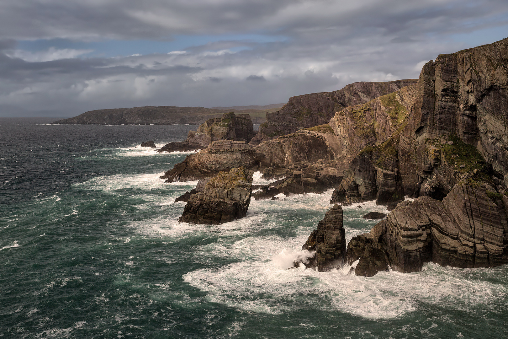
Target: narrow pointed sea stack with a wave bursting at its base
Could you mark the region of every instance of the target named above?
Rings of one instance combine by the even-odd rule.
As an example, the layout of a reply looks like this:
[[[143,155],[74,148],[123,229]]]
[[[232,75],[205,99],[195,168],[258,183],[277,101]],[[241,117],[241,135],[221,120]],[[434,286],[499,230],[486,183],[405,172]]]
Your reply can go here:
[[[313,257],[307,258],[308,262],[303,262],[306,267],[316,267],[320,272],[342,267],[346,253],[342,206],[335,205],[326,212],[325,219],[302,246],[304,250],[315,251]]]

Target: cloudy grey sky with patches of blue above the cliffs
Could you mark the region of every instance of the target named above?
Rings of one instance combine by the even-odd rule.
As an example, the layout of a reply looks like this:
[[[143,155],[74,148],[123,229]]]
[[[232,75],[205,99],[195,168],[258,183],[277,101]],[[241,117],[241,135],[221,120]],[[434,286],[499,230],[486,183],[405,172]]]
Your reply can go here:
[[[0,116],[283,103],[506,37],[506,0],[2,0]]]

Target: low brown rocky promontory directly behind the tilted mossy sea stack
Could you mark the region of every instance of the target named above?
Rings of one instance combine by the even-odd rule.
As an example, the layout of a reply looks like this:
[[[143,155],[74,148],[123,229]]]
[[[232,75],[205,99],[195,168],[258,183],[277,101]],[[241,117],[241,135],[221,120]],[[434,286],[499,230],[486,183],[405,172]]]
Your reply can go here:
[[[262,171],[265,178],[288,178],[284,187],[289,191],[285,192],[322,192],[336,188],[346,168],[346,163],[334,160],[334,141],[330,128],[326,132],[301,130],[253,148],[241,141],[214,141],[161,178],[167,182],[196,180],[244,166]]]

